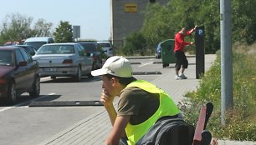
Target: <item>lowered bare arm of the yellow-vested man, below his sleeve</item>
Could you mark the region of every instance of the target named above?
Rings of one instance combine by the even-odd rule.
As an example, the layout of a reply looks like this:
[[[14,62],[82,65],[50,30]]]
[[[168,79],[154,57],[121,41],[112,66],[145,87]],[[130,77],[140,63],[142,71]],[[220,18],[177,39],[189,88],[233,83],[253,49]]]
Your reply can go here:
[[[128,122],[130,121],[131,116],[118,116],[115,118],[114,127],[110,132],[110,136],[107,138],[106,144],[107,145],[117,145],[120,142],[120,138],[125,138],[125,128]]]

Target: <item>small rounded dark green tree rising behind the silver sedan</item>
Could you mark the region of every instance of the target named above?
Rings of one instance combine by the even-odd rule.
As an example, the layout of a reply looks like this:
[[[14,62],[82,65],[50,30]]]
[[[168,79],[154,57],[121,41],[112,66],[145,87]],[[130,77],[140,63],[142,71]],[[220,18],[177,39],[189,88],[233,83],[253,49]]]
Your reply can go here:
[[[60,21],[54,32],[55,42],[73,42],[73,29],[69,22]]]

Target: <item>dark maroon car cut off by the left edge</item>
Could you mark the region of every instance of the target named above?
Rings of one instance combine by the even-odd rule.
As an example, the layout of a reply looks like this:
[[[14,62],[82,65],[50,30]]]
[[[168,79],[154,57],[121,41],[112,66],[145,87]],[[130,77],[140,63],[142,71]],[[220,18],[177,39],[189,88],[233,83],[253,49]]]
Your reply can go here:
[[[22,47],[0,47],[0,97],[13,104],[23,92],[39,96],[38,62]]]

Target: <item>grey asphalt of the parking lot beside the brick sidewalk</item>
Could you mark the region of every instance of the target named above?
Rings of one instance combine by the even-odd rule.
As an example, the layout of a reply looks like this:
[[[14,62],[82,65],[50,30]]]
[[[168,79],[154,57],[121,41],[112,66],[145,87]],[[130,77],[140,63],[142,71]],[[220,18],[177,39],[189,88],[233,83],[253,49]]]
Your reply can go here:
[[[160,73],[170,72],[170,69],[173,69],[174,64],[163,68],[159,62],[161,59],[131,59],[133,71],[136,72],[135,77],[151,82],[161,77]],[[98,101],[100,93],[100,77],[84,77],[81,82],[74,82],[70,77],[57,77],[56,80],[42,77],[40,97],[31,99],[27,93],[24,93],[14,106],[0,103],[0,145],[42,143],[102,107],[75,105],[60,107],[58,103],[53,107],[28,107],[29,103]]]

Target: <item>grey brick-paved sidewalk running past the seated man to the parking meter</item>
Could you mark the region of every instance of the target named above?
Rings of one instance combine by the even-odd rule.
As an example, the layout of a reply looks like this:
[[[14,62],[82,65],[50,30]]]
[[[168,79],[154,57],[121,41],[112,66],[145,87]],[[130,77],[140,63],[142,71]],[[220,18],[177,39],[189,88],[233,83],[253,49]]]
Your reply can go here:
[[[205,70],[211,67],[214,62],[215,55],[206,55],[205,57]],[[195,57],[188,57],[189,63],[195,63]],[[186,80],[175,80],[175,72],[164,74],[153,83],[156,86],[161,87],[167,93],[169,93],[175,102],[180,102],[184,98],[186,92],[196,90],[199,80],[196,79],[196,66],[189,65],[186,70]],[[115,103],[117,100],[115,100]],[[49,138],[40,145],[103,145],[105,139],[110,133],[111,124],[107,112],[104,107],[99,112],[90,117],[84,118],[84,120],[74,124],[74,126],[65,129],[63,132],[56,134],[53,138]],[[256,145],[253,142],[234,142],[219,140],[218,145]]]

